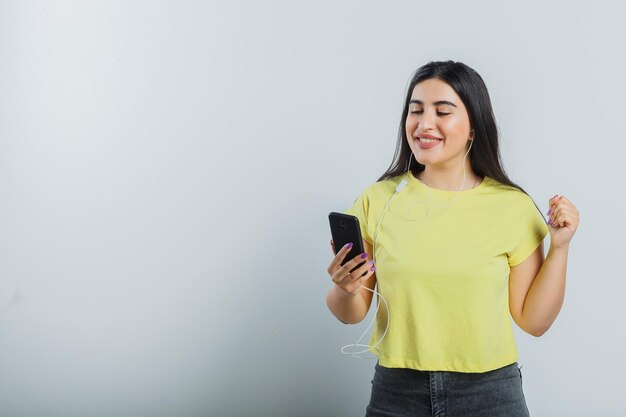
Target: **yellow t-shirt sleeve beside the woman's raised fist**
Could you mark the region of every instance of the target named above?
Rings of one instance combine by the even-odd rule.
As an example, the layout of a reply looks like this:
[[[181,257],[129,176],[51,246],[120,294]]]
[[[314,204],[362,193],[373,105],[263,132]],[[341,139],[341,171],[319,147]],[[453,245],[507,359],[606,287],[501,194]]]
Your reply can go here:
[[[526,260],[548,234],[548,226],[532,199],[526,196],[522,205],[518,217],[517,244],[508,253],[509,266],[515,266]]]

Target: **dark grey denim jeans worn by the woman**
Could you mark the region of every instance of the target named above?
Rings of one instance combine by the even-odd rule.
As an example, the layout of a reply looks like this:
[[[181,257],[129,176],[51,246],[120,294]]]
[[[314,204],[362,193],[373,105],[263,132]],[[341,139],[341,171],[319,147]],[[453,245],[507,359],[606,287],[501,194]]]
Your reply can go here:
[[[376,364],[366,417],[528,417],[517,362],[483,373]]]

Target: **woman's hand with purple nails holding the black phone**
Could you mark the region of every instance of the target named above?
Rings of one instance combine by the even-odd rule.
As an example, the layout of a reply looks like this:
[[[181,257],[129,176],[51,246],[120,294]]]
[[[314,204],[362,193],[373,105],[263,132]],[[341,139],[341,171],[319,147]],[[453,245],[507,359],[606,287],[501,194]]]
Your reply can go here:
[[[335,253],[335,244],[332,240],[330,241],[330,245],[333,253]],[[348,252],[350,252],[351,248],[352,244],[347,244],[341,248],[339,252],[336,252],[335,257],[328,266],[328,274],[337,287],[344,292],[355,296],[360,293],[359,289],[361,288],[362,282],[372,276],[376,267],[374,266],[374,261],[371,260],[369,262],[365,262],[353,272],[350,272],[361,262],[367,260],[367,253],[355,256],[342,266],[341,262],[344,260]]]

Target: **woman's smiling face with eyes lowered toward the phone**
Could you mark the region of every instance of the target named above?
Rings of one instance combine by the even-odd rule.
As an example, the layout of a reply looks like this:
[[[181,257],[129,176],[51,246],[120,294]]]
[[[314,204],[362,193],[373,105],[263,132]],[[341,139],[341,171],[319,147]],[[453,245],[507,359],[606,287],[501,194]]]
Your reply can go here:
[[[443,169],[463,163],[471,138],[469,115],[446,82],[432,78],[413,88],[405,128],[419,163]]]

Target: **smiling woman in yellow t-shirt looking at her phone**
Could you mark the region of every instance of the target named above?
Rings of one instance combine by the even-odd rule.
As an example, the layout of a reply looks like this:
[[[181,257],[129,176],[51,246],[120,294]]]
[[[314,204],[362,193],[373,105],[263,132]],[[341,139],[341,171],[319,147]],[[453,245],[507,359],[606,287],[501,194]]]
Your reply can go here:
[[[358,323],[375,286],[389,308],[371,338],[384,336],[366,415],[528,416],[511,317],[534,336],[556,319],[578,211],[555,195],[546,225],[507,177],[478,73],[452,61],[417,70],[392,164],[347,213],[366,253],[341,266],[350,245],[332,247],[328,308]]]

